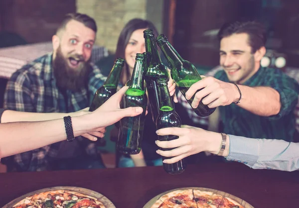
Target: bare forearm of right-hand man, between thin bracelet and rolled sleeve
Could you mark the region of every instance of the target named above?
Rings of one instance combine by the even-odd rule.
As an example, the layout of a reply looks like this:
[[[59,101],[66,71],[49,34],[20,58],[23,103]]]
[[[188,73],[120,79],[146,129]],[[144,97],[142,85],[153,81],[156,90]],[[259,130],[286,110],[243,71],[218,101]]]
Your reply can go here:
[[[281,109],[279,93],[270,87],[248,87],[238,85],[242,93],[240,107],[261,116],[271,116]]]

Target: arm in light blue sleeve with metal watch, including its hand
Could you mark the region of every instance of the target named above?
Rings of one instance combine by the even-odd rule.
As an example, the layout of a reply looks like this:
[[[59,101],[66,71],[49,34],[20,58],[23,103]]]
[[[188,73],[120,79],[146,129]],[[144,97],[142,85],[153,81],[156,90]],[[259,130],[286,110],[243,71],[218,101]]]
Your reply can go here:
[[[170,151],[157,150],[162,156],[172,157],[164,160],[164,163],[174,163],[202,151],[218,154],[222,142],[220,133],[191,126],[163,128],[157,130],[157,134],[179,136],[171,141],[156,141],[161,148],[174,148]],[[241,162],[254,169],[299,169],[299,143],[284,140],[227,135],[223,156],[227,160]]]

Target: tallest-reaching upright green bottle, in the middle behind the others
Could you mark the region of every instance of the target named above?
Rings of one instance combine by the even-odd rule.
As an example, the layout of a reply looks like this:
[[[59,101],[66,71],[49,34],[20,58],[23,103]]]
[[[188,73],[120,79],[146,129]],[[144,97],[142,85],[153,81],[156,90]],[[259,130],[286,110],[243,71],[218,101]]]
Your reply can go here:
[[[144,38],[146,42],[147,53],[145,80],[149,96],[149,108],[151,111],[152,120],[155,123],[159,113],[159,102],[156,84],[154,82],[156,82],[156,80],[159,78],[165,78],[168,81],[169,75],[166,66],[161,62],[152,29],[147,29],[144,31]]]

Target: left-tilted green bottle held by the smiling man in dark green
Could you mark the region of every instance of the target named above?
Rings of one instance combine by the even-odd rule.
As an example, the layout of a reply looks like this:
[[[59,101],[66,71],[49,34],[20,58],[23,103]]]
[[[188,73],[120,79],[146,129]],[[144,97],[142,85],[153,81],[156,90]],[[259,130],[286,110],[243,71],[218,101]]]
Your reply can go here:
[[[164,35],[158,35],[156,41],[171,67],[171,78],[174,80],[176,86],[185,97],[185,93],[191,87],[191,85],[201,80],[200,75],[193,64],[182,59],[182,57],[176,52]],[[190,100],[187,100],[190,105],[192,104],[194,96],[195,94]],[[200,101],[197,108],[193,108],[195,113],[199,116],[210,115],[215,111],[215,109],[216,107],[209,108],[207,105],[203,104],[202,101]]]

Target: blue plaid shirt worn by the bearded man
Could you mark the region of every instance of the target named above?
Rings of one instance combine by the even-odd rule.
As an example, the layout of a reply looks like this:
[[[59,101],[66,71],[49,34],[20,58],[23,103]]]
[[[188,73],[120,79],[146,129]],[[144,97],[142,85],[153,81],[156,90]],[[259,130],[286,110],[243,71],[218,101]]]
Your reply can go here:
[[[56,86],[51,62],[52,53],[48,53],[13,73],[6,86],[4,107],[27,112],[74,112],[88,107],[106,77],[91,65],[88,88],[79,92],[66,91],[63,95]],[[79,143],[82,154],[96,157],[94,143],[81,137],[73,141]],[[5,158],[7,168],[10,171],[50,170],[49,161],[59,157],[60,144],[57,142]]]

